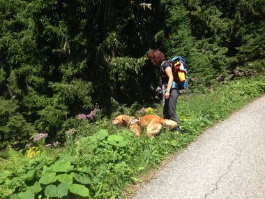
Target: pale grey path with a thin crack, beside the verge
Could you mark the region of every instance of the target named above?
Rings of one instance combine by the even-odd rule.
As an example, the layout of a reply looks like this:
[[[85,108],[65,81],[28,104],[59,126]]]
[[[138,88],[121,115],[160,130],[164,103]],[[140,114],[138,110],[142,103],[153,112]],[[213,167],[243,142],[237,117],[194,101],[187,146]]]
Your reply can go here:
[[[265,95],[205,131],[134,198],[265,198]]]

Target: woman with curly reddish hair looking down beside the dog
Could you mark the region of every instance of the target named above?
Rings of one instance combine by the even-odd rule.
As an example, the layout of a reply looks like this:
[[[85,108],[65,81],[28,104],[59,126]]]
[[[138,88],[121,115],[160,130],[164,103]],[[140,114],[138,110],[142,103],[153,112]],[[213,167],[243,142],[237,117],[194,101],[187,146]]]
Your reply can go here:
[[[160,66],[164,118],[176,121],[178,124],[176,131],[180,131],[181,128],[179,127],[179,119],[176,115],[176,101],[179,97],[179,93],[177,84],[174,81],[171,65],[169,61],[165,59],[165,55],[159,50],[152,50],[147,54],[147,56],[155,66]]]

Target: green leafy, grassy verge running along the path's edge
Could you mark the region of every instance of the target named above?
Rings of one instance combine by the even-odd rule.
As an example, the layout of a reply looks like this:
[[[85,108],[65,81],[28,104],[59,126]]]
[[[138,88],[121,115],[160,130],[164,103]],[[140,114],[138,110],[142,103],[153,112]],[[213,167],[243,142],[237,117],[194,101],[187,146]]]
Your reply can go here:
[[[77,135],[69,138],[73,139],[72,145],[61,149],[61,154],[53,149],[28,160],[11,150],[9,162],[1,163],[3,180],[0,181],[0,198],[22,198],[29,194],[30,186],[37,186],[39,182],[38,192],[32,193],[36,198],[50,196],[52,186],[58,189],[64,187],[66,193],[72,184],[84,186],[84,194],[89,194],[91,198],[123,198],[126,188],[139,182],[142,174],[156,168],[167,156],[195,140],[205,128],[229,117],[264,91],[265,77],[259,76],[216,86],[213,93],[205,90],[202,94],[180,96],[177,112],[183,134],[163,130],[155,138],[147,139],[143,134],[138,139],[128,129],[116,128],[109,120],[103,119],[96,124],[84,121],[77,128]],[[161,115],[160,105],[156,112]],[[67,169],[56,171],[56,179],[50,184],[42,184],[41,178],[56,168],[59,162],[67,163]],[[32,173],[34,175],[29,175]],[[71,173],[86,176],[86,183],[73,178]],[[72,180],[68,186],[59,186],[62,174]],[[69,188],[68,197],[76,198],[77,195],[73,188]]]

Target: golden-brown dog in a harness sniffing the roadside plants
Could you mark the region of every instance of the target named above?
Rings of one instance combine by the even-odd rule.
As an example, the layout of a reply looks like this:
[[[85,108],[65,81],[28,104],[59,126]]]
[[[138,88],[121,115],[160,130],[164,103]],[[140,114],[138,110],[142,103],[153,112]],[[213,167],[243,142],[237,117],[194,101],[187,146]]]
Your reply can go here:
[[[147,131],[147,137],[151,138],[153,135],[159,133],[162,127],[167,127],[172,130],[178,125],[176,124],[176,121],[162,119],[157,115],[144,115],[139,118],[128,115],[119,115],[112,120],[112,124],[130,128],[130,131],[135,133],[137,138],[139,138],[142,130],[145,128]]]

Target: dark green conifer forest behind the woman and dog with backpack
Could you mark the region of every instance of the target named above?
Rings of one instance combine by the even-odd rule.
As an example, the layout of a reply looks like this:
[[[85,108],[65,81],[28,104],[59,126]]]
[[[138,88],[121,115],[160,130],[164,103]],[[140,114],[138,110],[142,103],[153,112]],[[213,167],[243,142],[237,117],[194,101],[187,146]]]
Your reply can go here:
[[[181,55],[194,84],[264,73],[262,0],[0,0],[0,147],[113,103],[155,103],[149,50]]]

